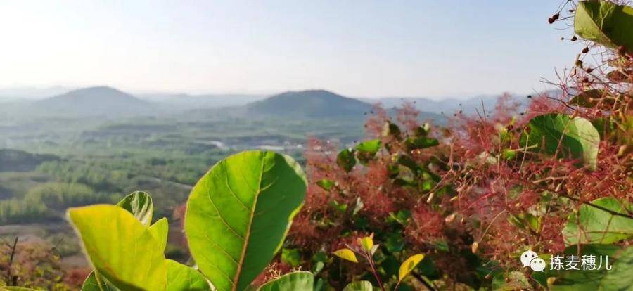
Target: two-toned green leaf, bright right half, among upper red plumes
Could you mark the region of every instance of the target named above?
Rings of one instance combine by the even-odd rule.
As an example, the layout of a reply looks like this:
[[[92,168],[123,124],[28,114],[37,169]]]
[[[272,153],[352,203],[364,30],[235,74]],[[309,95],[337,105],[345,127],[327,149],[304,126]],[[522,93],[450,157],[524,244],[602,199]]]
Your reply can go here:
[[[589,169],[596,169],[600,134],[589,120],[546,114],[532,118],[528,127],[530,131],[521,136],[522,146],[542,145],[545,153],[582,159]]]

